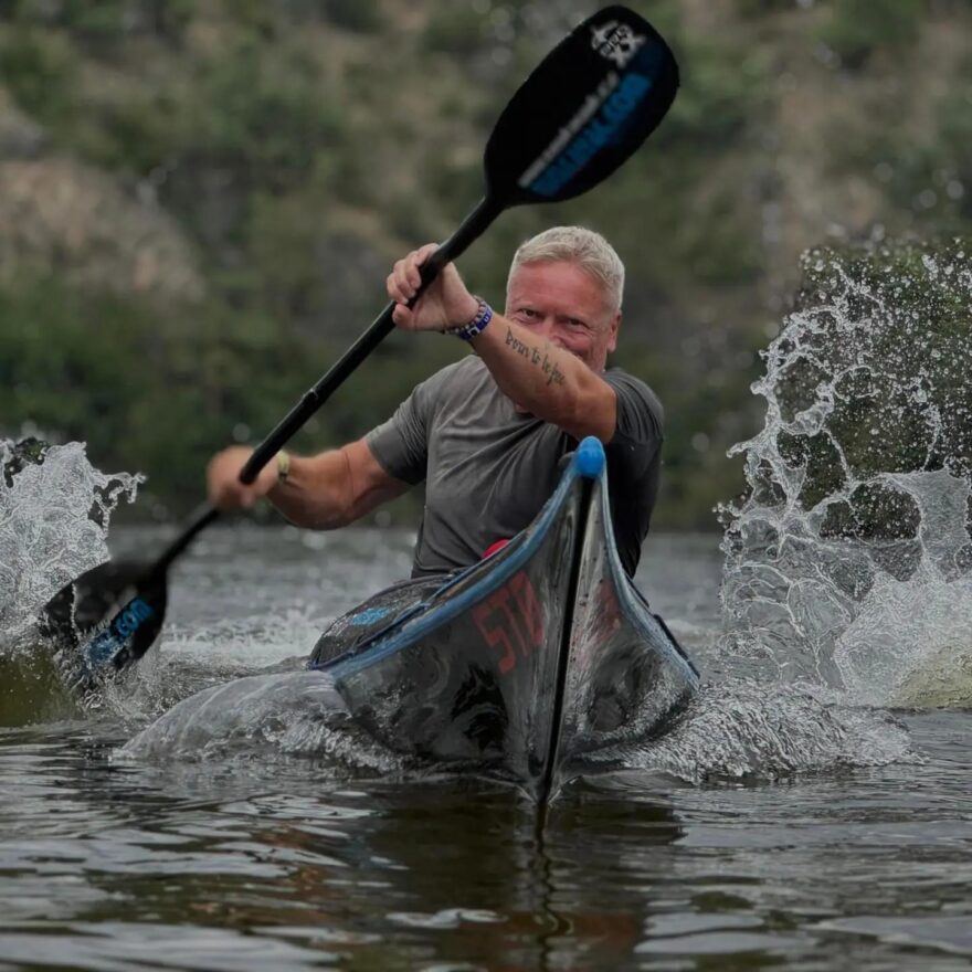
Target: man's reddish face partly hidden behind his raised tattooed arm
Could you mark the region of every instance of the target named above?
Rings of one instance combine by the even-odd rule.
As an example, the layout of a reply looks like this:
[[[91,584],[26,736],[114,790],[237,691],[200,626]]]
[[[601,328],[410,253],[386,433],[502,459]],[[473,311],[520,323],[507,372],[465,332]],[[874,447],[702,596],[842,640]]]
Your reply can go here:
[[[621,311],[575,263],[525,263],[509,282],[506,316],[603,371],[617,346]]]

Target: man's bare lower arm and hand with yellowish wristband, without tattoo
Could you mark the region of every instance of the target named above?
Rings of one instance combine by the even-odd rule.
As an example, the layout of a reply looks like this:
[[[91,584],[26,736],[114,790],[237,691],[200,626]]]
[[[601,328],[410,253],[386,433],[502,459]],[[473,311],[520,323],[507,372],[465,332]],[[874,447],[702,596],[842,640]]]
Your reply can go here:
[[[290,456],[286,479],[276,463],[252,486],[239,480],[252,450],[233,446],[216,454],[207,474],[210,500],[221,509],[246,509],[266,497],[293,524],[316,530],[347,526],[395,496],[409,484],[384,472],[363,439],[316,456]]]

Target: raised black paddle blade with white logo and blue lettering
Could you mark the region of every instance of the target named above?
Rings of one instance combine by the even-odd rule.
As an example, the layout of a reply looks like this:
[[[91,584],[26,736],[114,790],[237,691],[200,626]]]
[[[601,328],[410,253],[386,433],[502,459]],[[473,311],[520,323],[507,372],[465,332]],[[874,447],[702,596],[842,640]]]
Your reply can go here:
[[[517,205],[587,192],[648,137],[677,88],[661,34],[606,7],[547,55],[499,117],[486,146],[488,194]]]

